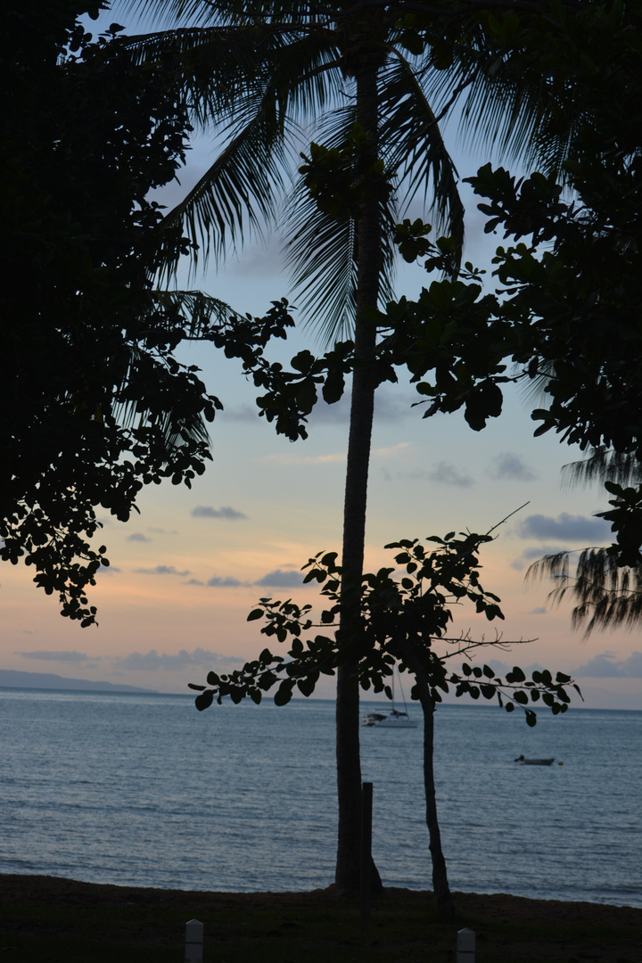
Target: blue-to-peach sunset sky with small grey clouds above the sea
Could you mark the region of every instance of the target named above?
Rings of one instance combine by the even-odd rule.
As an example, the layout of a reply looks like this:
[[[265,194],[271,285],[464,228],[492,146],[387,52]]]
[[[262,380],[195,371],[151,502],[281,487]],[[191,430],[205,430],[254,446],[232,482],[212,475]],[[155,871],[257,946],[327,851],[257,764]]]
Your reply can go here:
[[[454,124],[447,143],[461,178],[489,159],[464,149]],[[164,201],[179,199],[211,158],[206,139],[194,143],[181,183],[167,189]],[[462,192],[466,257],[489,267],[501,238],[483,233],[475,199],[466,185]],[[426,280],[423,268],[401,265],[397,293],[413,297]],[[257,316],[272,299],[290,295],[277,237],[267,246],[249,243],[195,279],[182,270],[179,284],[188,283]],[[303,320],[296,312],[295,318]],[[287,361],[302,347],[319,348],[299,327],[274,357]],[[62,618],[55,597],[34,586],[29,569],[0,566],[0,668],[186,692],[188,682],[204,683],[209,669],[239,667],[265,647],[260,623],[246,621],[259,598],[316,604],[317,590],[301,585],[300,567],[321,550],[341,549],[347,398],[321,404],[308,439],[293,444],[258,417],[239,363],[210,345],[189,346],[180,357],[201,368],[208,391],[224,405],[210,430],[213,461],[191,490],[171,483],[145,489],[140,514],[127,524],[99,512],[111,565],[90,590],[97,627]],[[481,554],[482,585],[501,597],[501,639],[516,644],[485,650],[483,661],[572,674],[591,708],[642,708],[639,634],[582,638],[571,630],[570,604],[551,606],[550,584],[525,582],[528,565],[547,553],[610,541],[608,525],[595,518],[606,508],[599,486],[562,483],[562,466],[577,460],[578,450],[550,433],[533,438],[527,399],[516,389],[505,392],[501,417],[481,432],[459,413],[423,419],[422,409],[412,407],[416,400],[405,383],[377,392],[367,570],[393,564],[387,542],[487,532],[519,508]],[[497,623],[460,609],[458,631],[495,640]],[[533,640],[520,642],[526,639]],[[318,694],[331,697],[332,680]]]

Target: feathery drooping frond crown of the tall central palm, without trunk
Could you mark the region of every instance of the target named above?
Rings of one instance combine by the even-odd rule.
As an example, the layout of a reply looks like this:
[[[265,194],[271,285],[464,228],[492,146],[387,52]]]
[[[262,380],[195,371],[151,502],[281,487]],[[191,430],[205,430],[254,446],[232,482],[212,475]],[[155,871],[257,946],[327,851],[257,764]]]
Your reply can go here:
[[[212,130],[220,147],[212,167],[167,215],[167,224],[180,222],[206,259],[211,252],[219,257],[238,247],[244,234],[261,238],[289,183],[300,130],[311,120],[321,122],[321,136],[329,140],[315,131],[316,139],[332,145],[341,143],[353,120],[349,106],[330,110],[349,96],[344,88],[351,83],[341,70],[343,34],[339,20],[328,18],[331,5],[132,0],[129,9],[188,24],[171,32],[183,90],[189,92],[194,120]],[[334,13],[338,18],[343,12]],[[345,13],[353,15],[349,8]],[[454,98],[475,137],[482,135],[483,143],[499,138],[518,154],[530,149],[542,111],[551,111],[522,89],[514,65],[504,69],[497,62],[483,31],[471,29],[461,48],[455,45],[452,67],[438,70],[430,56],[420,60],[401,53],[395,46],[398,32],[391,27],[382,45],[386,57],[378,84],[381,155],[397,173],[404,202],[423,193],[437,231],[455,241],[453,268],[463,246],[464,209],[438,123],[440,110]],[[141,50],[160,56],[163,43],[147,39]],[[292,193],[287,215],[286,253],[308,324],[319,325],[322,339],[346,334],[354,309],[354,225],[322,215],[300,187]],[[386,300],[393,296],[392,205],[382,209],[382,220],[381,299]]]

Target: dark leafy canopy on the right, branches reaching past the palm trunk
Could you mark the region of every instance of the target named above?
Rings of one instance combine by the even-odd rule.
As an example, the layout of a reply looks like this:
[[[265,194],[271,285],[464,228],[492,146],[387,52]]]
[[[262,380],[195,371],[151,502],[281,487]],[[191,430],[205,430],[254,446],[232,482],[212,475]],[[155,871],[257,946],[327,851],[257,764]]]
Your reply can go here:
[[[575,576],[568,554],[539,568],[555,577],[557,599],[573,593],[574,622],[588,631],[631,626],[642,614],[641,28],[639,6],[625,3],[571,12],[560,5],[547,16],[515,12],[496,22],[498,58],[557,91],[559,114],[543,117],[535,142],[546,156],[566,132],[561,177],[545,167],[518,178],[487,164],[469,178],[485,198],[486,231],[512,241],[497,249],[499,292],[484,291],[467,265],[432,280],[416,301],[390,301],[370,314],[384,335],[372,380],[395,380],[407,368],[424,417],[463,408],[470,426],[483,429],[501,413],[502,384],[522,381],[546,400],[533,409],[534,433],[553,430],[587,453],[577,478],[595,480],[602,470],[612,546],[585,550]],[[325,190],[319,178],[317,190]],[[448,269],[449,238],[429,242],[421,220],[396,231],[408,261]],[[295,371],[282,374],[278,399],[259,400],[277,429],[304,433],[313,391],[322,386],[334,400],[350,351],[335,345],[322,358],[299,357]],[[298,413],[296,398],[304,400]]]

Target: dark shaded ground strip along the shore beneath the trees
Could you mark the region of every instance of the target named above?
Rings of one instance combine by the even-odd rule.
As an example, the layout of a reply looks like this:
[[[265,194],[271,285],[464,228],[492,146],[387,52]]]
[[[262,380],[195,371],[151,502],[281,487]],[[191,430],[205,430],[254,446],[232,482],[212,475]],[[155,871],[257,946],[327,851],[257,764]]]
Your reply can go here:
[[[454,963],[475,930],[475,963],[642,963],[642,910],[503,894],[455,895],[439,923],[431,895],[389,889],[363,921],[354,900],[313,893],[187,893],[0,875],[3,963],[181,963],[185,924],[205,925],[204,963]]]

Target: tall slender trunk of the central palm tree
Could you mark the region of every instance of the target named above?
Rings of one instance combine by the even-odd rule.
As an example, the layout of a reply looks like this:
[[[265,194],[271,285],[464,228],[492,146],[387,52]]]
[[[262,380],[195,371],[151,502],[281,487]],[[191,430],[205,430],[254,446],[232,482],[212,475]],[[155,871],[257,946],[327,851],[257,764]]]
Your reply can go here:
[[[373,138],[377,122],[377,65],[362,68],[356,76],[356,119]],[[369,166],[376,156],[362,158]],[[369,379],[367,359],[376,343],[374,328],[364,325],[364,307],[376,307],[381,270],[381,223],[377,201],[362,206],[357,221],[357,293],[355,320],[355,356],[357,365],[352,376],[350,429],[347,445],[346,501],[344,505],[344,546],[342,575],[342,610],[339,641],[349,644],[358,632],[361,609],[361,576],[363,574],[366,537],[366,500],[368,469],[372,439],[374,389]],[[364,364],[359,365],[359,360]],[[359,756],[359,687],[354,662],[342,665],[337,673],[337,790],[339,797],[339,836],[335,881],[343,893],[359,889],[361,838],[361,761]],[[381,888],[381,880],[373,868],[372,889]]]

